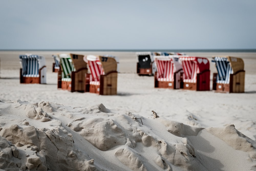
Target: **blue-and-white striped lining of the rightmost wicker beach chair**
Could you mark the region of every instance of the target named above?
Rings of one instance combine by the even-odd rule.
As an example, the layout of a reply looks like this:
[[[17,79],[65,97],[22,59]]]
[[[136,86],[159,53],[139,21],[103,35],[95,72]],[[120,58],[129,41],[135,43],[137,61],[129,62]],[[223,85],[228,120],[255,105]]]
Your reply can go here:
[[[214,57],[216,63],[217,83],[229,84],[230,74],[233,74],[233,69],[230,66],[230,62],[225,57]]]

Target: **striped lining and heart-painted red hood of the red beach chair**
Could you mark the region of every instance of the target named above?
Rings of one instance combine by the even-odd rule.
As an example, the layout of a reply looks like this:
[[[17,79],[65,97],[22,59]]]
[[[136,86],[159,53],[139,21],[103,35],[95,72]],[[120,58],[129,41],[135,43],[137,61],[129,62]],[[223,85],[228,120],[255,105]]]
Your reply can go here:
[[[184,82],[196,82],[197,74],[210,68],[208,59],[204,57],[181,56],[179,62],[185,75]]]

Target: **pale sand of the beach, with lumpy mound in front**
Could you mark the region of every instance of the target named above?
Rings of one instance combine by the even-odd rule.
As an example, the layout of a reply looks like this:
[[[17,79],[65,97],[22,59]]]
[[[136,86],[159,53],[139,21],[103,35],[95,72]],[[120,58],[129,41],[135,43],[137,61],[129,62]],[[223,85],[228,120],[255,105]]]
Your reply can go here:
[[[74,52],[119,57],[114,96],[58,90],[58,52],[29,52],[47,84],[19,84],[25,53],[0,52],[0,170],[256,170],[256,53],[186,53],[243,58],[245,93],[227,94],[154,88],[134,52]]]

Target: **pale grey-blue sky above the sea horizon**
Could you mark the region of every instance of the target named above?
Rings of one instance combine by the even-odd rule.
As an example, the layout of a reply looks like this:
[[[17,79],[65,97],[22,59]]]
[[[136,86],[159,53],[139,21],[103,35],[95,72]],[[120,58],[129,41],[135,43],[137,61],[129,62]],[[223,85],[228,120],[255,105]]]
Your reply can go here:
[[[255,0],[0,0],[2,49],[256,49]]]

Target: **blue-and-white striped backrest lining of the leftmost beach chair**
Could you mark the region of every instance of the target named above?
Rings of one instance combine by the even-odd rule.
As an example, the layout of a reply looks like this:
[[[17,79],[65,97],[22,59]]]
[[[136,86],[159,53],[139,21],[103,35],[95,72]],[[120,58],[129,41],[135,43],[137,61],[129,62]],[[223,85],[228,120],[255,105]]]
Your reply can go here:
[[[39,64],[37,55],[20,55],[22,74],[25,77],[39,77]]]

